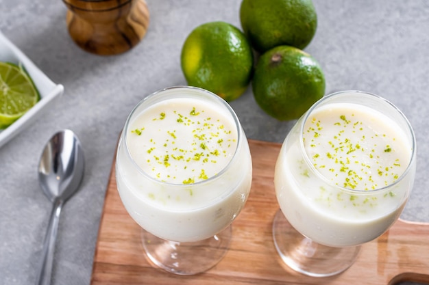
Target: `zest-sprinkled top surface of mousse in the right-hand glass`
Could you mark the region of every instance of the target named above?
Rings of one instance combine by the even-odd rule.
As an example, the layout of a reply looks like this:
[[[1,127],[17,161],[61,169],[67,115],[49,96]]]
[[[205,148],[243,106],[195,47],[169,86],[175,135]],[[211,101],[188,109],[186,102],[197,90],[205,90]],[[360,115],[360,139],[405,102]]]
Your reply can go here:
[[[405,171],[411,148],[396,124],[355,104],[323,106],[304,126],[312,165],[333,184],[356,190],[391,185]]]

